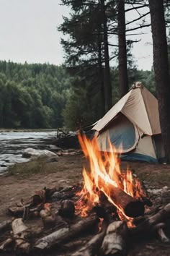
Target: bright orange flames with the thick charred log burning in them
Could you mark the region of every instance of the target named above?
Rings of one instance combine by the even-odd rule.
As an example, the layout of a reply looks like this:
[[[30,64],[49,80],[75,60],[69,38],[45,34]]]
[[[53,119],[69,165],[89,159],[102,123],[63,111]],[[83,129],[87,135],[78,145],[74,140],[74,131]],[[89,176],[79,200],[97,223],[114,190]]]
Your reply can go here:
[[[81,200],[76,207],[81,210],[81,216],[88,215],[92,207],[102,204],[101,195],[105,195],[115,205],[119,216],[127,220],[143,216],[146,193],[129,169],[120,170],[120,160],[111,142],[109,153],[99,150],[96,137],[88,140],[79,135],[79,142],[90,163],[89,169],[83,168],[84,188],[79,193]]]

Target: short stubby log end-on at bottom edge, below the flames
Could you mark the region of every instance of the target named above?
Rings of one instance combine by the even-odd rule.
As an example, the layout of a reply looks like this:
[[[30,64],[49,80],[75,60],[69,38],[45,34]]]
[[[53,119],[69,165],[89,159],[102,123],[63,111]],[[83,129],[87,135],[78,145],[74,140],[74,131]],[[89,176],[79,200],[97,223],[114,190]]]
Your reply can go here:
[[[102,242],[101,255],[127,255],[128,227],[123,221],[109,224]]]

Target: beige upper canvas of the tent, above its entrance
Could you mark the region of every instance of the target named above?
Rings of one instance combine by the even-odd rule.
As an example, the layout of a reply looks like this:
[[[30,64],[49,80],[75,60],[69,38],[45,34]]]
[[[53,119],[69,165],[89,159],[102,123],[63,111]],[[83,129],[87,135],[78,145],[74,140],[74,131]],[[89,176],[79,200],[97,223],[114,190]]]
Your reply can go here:
[[[101,131],[119,112],[127,116],[144,134],[155,135],[161,133],[158,101],[146,88],[130,90],[92,129]]]

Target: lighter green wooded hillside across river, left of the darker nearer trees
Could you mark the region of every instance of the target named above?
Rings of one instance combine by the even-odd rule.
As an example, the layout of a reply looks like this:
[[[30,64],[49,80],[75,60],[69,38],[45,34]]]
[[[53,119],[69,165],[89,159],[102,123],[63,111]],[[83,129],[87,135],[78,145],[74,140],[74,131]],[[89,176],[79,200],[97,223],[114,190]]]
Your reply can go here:
[[[0,127],[62,127],[70,84],[64,67],[0,61]]]

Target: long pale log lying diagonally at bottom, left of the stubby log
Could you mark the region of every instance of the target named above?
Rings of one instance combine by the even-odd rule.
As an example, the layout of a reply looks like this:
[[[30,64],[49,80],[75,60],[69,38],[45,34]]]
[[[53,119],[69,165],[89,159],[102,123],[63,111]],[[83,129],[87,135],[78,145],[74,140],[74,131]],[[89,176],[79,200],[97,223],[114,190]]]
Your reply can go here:
[[[48,236],[39,239],[34,247],[36,254],[42,252],[44,249],[50,249],[53,246],[60,246],[63,242],[68,242],[73,237],[82,234],[84,231],[91,230],[99,222],[99,218],[91,216],[84,218],[70,228],[66,227],[49,234]]]

